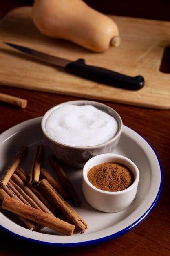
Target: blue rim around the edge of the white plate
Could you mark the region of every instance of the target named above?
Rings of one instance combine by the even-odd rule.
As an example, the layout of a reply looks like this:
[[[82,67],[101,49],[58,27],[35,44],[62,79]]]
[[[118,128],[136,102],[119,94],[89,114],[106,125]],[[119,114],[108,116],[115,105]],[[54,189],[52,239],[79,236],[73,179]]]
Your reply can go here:
[[[37,118],[34,118],[34,119],[38,120],[40,118],[41,117],[37,117]],[[33,120],[33,119],[31,119],[31,120]],[[28,120],[28,121],[31,121],[31,120]],[[22,123],[25,123],[25,122],[27,122],[27,121],[24,121]],[[16,126],[18,126],[18,125],[16,125]],[[126,127],[128,127],[128,126],[126,126]],[[142,137],[138,132],[134,131],[131,128],[129,128],[129,129],[132,130],[133,132],[135,132],[137,135],[139,135],[142,139],[144,139],[144,137]],[[160,162],[159,157],[158,157],[157,153],[155,152],[154,148],[148,143],[148,141],[146,139],[144,139],[144,140],[150,146],[150,148],[153,150],[153,152],[155,153],[155,156],[157,157],[157,160],[159,162],[159,167],[160,167],[160,172],[161,172],[160,186],[159,186],[157,196],[156,196],[155,200],[153,201],[153,203],[148,208],[148,210],[142,216],[140,216],[139,219],[137,219],[135,222],[133,222],[128,227],[126,227],[126,228],[124,228],[124,229],[122,229],[122,230],[120,230],[116,233],[113,233],[109,236],[102,237],[102,238],[89,240],[89,241],[83,241],[83,242],[66,243],[66,244],[64,244],[64,243],[50,243],[50,242],[44,242],[44,241],[35,240],[35,239],[31,239],[31,238],[26,238],[24,236],[20,236],[19,234],[15,234],[14,232],[12,232],[12,231],[6,229],[5,227],[3,227],[2,225],[0,225],[0,228],[3,229],[4,231],[7,231],[8,233],[18,237],[18,238],[21,238],[21,239],[25,240],[26,242],[35,243],[35,244],[38,244],[38,245],[46,245],[46,246],[50,246],[50,247],[65,247],[65,248],[66,247],[72,247],[72,248],[85,247],[85,246],[91,246],[91,245],[97,245],[97,244],[105,243],[105,242],[108,242],[110,240],[118,238],[119,236],[122,236],[122,235],[126,234],[127,232],[131,231],[132,229],[137,227],[139,224],[141,224],[141,222],[143,222],[150,215],[150,213],[153,211],[153,209],[157,205],[157,203],[159,201],[159,198],[161,196],[162,189],[163,189],[163,169],[162,169],[162,166],[161,166],[161,162]]]

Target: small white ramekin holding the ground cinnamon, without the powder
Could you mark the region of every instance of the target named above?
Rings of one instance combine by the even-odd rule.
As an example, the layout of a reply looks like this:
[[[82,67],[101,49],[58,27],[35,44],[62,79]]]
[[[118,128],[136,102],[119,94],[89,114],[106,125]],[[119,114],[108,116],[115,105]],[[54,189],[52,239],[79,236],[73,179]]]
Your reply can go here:
[[[114,162],[123,164],[130,169],[134,176],[133,183],[122,191],[109,192],[97,189],[89,182],[87,173],[88,171],[98,164],[107,162]],[[139,170],[137,166],[127,157],[117,154],[102,154],[96,155],[86,162],[83,168],[82,188],[86,201],[93,208],[108,213],[118,212],[126,209],[135,198],[137,193],[137,186],[139,182]]]

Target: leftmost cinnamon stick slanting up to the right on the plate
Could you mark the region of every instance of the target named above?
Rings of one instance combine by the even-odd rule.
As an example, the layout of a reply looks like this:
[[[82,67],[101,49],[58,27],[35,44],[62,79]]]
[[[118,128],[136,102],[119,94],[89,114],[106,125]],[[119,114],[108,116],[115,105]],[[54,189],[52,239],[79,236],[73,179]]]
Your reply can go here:
[[[27,146],[23,146],[22,149],[20,150],[19,154],[15,157],[15,159],[13,160],[12,164],[7,169],[4,177],[2,178],[2,180],[0,182],[0,189],[7,185],[7,183],[9,182],[9,180],[11,178],[11,176],[13,175],[13,173],[16,170],[16,168],[18,167],[18,165],[20,164],[21,160],[23,159],[24,155],[26,154],[27,150],[28,150],[28,147]]]

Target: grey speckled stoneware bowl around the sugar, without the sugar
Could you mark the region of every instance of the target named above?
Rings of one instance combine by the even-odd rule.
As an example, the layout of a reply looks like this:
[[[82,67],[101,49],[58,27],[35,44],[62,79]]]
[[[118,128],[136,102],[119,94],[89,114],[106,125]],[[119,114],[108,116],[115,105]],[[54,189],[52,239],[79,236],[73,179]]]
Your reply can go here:
[[[99,144],[96,146],[87,146],[87,147],[69,146],[53,140],[46,132],[46,128],[45,128],[46,120],[48,119],[51,112],[53,112],[56,108],[60,108],[65,104],[71,104],[71,105],[77,105],[77,106],[91,105],[113,116],[117,120],[118,127],[119,127],[116,135],[112,139],[110,139],[109,141],[103,144]],[[122,126],[123,124],[122,124],[121,117],[118,115],[118,113],[115,110],[113,110],[112,108],[102,103],[95,102],[95,101],[68,101],[68,102],[59,104],[51,108],[49,111],[47,111],[44,117],[42,118],[42,122],[41,122],[41,127],[42,127],[42,132],[44,134],[45,142],[49,147],[49,149],[52,151],[52,153],[60,161],[76,168],[82,168],[84,164],[88,161],[88,159],[90,159],[91,157],[94,157],[95,155],[99,155],[103,153],[112,153],[115,147],[117,146],[117,143],[119,142],[121,132],[122,132]]]

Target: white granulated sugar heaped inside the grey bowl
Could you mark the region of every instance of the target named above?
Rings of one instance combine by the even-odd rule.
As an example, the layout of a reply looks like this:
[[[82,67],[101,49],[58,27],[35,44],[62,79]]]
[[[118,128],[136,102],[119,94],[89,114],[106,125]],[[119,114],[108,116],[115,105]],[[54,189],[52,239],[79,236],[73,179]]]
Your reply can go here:
[[[95,146],[110,140],[118,130],[116,119],[91,106],[63,105],[46,120],[46,132],[62,144]]]

